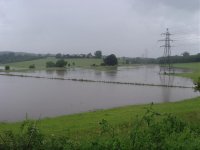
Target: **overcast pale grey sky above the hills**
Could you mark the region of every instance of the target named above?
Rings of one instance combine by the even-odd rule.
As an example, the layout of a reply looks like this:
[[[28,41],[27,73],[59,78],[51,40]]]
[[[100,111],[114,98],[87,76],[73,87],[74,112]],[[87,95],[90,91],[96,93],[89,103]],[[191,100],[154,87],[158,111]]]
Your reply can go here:
[[[200,0],[0,0],[0,51],[158,57],[200,52]]]

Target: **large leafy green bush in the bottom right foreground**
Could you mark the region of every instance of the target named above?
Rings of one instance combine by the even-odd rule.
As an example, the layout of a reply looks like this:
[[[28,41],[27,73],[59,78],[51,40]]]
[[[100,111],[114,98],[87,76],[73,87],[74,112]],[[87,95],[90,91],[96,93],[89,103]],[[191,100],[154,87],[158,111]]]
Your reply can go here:
[[[200,135],[186,122],[171,114],[159,114],[148,109],[133,126],[132,149],[199,149]]]

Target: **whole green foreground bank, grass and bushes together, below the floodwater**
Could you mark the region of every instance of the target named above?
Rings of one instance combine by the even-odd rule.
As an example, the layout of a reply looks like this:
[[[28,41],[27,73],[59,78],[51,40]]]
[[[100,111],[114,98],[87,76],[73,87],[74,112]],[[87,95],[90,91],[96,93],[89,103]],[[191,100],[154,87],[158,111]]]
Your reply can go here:
[[[0,149],[199,149],[200,97],[0,124]]]

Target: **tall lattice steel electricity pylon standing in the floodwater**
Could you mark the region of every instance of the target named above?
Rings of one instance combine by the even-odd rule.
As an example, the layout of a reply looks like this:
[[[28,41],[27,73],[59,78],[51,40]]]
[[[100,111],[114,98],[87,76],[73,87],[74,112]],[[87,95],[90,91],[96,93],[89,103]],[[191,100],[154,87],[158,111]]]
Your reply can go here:
[[[161,34],[162,36],[165,36],[164,39],[159,40],[159,41],[164,41],[164,45],[160,46],[160,47],[164,47],[164,55],[163,57],[161,57],[160,60],[160,73],[161,74],[172,74],[174,73],[174,68],[172,66],[172,62],[171,62],[171,44],[170,42],[172,42],[173,40],[170,39],[170,35],[172,35],[169,32],[169,29],[167,28],[165,33]]]

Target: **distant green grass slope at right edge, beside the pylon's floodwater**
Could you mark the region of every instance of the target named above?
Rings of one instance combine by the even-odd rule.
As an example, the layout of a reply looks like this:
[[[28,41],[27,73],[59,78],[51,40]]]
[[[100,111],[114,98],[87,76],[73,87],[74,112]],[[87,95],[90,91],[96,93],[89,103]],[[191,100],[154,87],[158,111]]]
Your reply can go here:
[[[194,81],[197,81],[198,77],[200,77],[200,62],[174,64],[174,67],[192,70],[191,73],[180,73],[180,74],[177,74],[178,76],[191,78]]]

